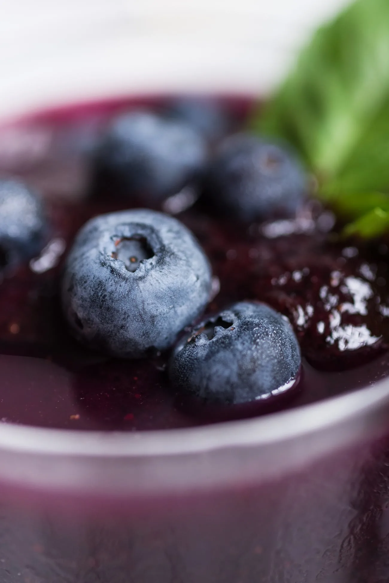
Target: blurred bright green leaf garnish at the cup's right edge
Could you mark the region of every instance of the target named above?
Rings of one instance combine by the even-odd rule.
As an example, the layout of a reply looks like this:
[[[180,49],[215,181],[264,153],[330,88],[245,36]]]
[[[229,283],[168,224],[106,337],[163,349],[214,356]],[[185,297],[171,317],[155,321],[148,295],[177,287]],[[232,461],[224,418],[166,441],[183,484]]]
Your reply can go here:
[[[389,229],[389,0],[356,0],[318,29],[253,127],[296,147],[350,233]]]

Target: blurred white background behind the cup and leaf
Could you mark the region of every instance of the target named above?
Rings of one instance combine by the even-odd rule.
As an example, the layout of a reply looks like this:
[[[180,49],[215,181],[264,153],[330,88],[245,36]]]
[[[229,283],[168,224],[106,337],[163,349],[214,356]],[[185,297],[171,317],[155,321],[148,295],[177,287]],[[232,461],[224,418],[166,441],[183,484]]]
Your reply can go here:
[[[266,93],[349,0],[0,0],[0,116],[92,96]]]

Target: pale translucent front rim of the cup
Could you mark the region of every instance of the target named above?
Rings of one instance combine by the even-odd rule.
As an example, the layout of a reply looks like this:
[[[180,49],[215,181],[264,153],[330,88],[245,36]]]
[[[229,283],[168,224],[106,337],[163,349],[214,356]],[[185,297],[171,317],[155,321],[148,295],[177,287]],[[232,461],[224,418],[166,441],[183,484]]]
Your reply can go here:
[[[0,451],[90,458],[139,458],[201,454],[230,447],[268,447],[331,430],[366,417],[363,427],[389,405],[389,377],[347,394],[261,417],[182,429],[81,431],[0,424]],[[389,415],[389,413],[388,413]],[[376,419],[377,418],[377,419]],[[356,428],[360,431],[360,424]],[[358,437],[357,435],[355,437]],[[341,444],[339,444],[341,445]]]

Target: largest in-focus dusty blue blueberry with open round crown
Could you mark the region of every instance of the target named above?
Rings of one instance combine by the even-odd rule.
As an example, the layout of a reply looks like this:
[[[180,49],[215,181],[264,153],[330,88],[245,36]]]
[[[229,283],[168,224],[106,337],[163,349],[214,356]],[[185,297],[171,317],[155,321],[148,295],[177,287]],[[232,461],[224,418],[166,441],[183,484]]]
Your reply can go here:
[[[191,232],[145,209],[89,220],[62,281],[62,305],[76,338],[125,358],[171,346],[210,293],[211,268]]]

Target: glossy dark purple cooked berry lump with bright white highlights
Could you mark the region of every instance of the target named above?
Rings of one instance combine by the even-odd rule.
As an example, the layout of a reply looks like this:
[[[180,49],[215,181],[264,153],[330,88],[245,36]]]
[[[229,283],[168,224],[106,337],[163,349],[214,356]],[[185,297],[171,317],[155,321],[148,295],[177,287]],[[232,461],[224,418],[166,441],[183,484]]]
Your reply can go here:
[[[288,315],[303,356],[324,370],[360,366],[389,344],[388,288],[380,285],[386,266],[358,257],[339,266],[336,250],[318,256],[310,249],[304,268],[272,278],[265,296]],[[264,287],[258,280],[253,293]]]

